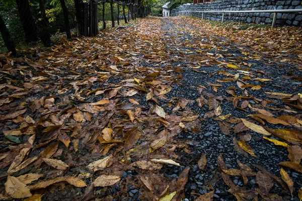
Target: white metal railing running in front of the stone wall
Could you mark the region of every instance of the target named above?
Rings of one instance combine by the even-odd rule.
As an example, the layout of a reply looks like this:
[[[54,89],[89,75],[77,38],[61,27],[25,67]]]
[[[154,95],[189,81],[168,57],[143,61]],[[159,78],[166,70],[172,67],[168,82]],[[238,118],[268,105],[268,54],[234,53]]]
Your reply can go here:
[[[276,24],[277,13],[302,13],[302,9],[256,10],[256,11],[180,11],[177,13],[170,14],[170,16],[173,17],[173,16],[184,15],[184,14],[186,14],[186,16],[187,14],[191,14],[192,16],[193,13],[202,13],[201,19],[203,19],[203,13],[222,13],[221,23],[223,23],[224,13],[273,13],[274,17],[271,26],[271,28],[273,28]]]

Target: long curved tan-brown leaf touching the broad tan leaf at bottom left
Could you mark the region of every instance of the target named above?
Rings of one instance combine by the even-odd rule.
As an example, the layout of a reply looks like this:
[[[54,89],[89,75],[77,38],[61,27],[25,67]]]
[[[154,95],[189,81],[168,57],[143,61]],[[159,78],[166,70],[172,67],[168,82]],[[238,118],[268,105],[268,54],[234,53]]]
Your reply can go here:
[[[76,187],[85,187],[86,186],[86,183],[83,180],[79,179],[79,178],[76,178],[76,177],[73,177],[73,176],[59,176],[59,177],[56,177],[54,179],[50,179],[50,180],[47,180],[47,181],[40,181],[40,182],[38,182],[34,185],[29,185],[28,187],[31,190],[36,190],[36,189],[40,189],[40,188],[46,188],[49,185],[52,185],[54,183],[58,183],[58,182],[61,182],[61,181],[66,181],[69,184],[74,185]]]

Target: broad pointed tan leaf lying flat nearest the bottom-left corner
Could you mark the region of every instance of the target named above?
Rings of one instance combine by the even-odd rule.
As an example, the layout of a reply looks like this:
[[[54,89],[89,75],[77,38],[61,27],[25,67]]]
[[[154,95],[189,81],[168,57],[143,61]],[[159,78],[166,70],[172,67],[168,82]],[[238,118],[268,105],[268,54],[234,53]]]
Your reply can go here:
[[[17,177],[8,176],[5,182],[5,191],[14,198],[24,198],[32,196],[30,188],[22,183]]]

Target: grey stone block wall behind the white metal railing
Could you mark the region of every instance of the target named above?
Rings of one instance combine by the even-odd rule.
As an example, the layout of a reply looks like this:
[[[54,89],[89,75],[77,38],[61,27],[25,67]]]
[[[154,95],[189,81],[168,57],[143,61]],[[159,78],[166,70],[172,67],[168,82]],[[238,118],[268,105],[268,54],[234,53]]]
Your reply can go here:
[[[184,4],[171,11],[253,11],[253,10],[281,10],[281,9],[302,9],[301,0],[222,0],[211,3]],[[194,16],[201,17],[201,13],[192,13]],[[185,15],[191,15],[187,13]],[[236,21],[244,23],[271,24],[273,13],[225,13],[224,21]],[[213,21],[221,21],[222,13],[204,13],[203,18]],[[278,13],[276,25],[302,26],[302,13]]]

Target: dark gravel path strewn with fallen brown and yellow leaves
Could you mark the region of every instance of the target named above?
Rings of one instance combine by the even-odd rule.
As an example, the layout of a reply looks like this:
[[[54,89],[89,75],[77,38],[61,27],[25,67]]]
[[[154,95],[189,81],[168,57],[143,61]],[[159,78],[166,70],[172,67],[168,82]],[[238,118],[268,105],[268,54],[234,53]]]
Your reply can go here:
[[[298,200],[302,35],[283,30],[152,17],[1,55],[0,129],[20,142],[0,138],[0,186],[35,173],[42,200]]]

